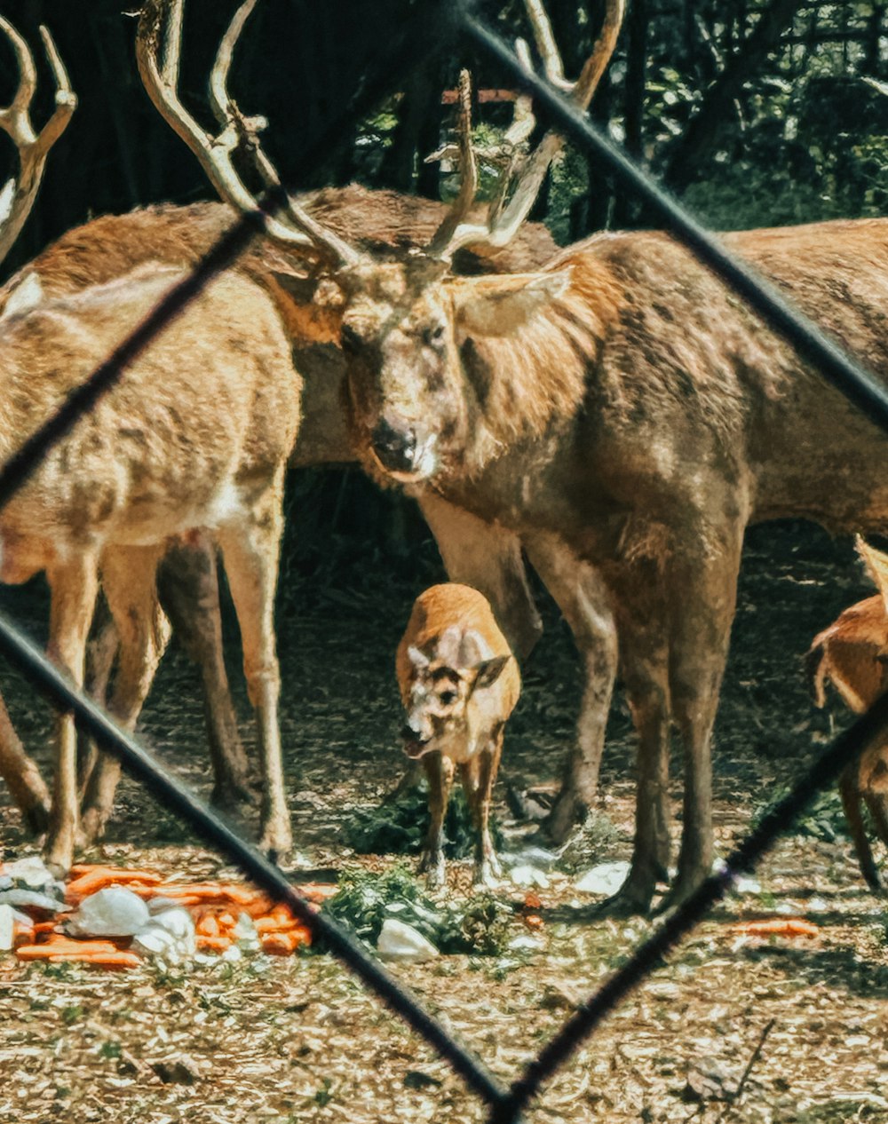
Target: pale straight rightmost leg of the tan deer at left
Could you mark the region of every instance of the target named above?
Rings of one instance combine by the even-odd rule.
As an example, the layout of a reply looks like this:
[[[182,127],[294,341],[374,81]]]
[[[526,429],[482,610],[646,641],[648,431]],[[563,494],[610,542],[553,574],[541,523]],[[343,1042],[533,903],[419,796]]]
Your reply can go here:
[[[274,642],[274,589],[278,581],[283,515],[283,470],[273,487],[253,505],[245,525],[218,532],[228,587],[232,590],[250,701],[259,723],[262,769],[261,846],[274,855],[292,849],[290,813],[283,787],[278,698],[281,676]]]

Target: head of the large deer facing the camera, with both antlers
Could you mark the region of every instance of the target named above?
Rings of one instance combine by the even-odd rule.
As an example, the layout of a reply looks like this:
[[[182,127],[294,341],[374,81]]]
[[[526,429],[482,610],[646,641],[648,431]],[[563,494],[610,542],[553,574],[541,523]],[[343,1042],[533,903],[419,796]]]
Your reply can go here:
[[[201,130],[184,110],[175,94],[182,3],[148,0],[143,10],[136,51],[152,99],[225,200],[262,215],[271,237],[302,250],[314,246],[321,266],[332,271],[344,294],[336,302],[342,345],[350,360],[352,428],[368,466],[402,481],[434,475],[448,460],[461,457],[470,439],[484,444],[479,424],[486,395],[484,342],[515,338],[524,325],[541,319],[570,283],[568,271],[456,278],[450,270],[452,256],[462,246],[502,246],[514,237],[562,137],[546,133],[533,152],[526,152],[534,121],[527,99],[519,98],[515,121],[491,157],[504,170],[487,221],[470,221],[478,158],[471,140],[470,81],[463,72],[455,149],[462,182],[453,207],[424,248],[402,261],[374,261],[325,232],[292,198],[282,214],[264,215],[235,169],[237,156],[252,163],[261,182],[280,187],[259,143],[264,121],[245,117],[227,92],[234,46],[256,0],[246,0],[238,9],[212,70],[210,101],[218,136]],[[601,33],[576,82],[564,79],[542,0],[525,0],[525,7],[547,76],[586,109],[616,45],[625,0],[606,0]],[[526,45],[519,42],[517,49],[529,66]],[[454,154],[447,147],[433,158],[445,153]]]

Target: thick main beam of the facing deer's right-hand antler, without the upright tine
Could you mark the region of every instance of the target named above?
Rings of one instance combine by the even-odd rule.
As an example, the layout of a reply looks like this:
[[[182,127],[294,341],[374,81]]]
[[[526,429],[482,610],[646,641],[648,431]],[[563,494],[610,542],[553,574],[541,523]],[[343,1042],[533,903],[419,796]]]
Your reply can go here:
[[[592,94],[601,80],[610,56],[614,53],[619,29],[625,16],[626,0],[606,0],[605,19],[601,31],[595,43],[592,53],[583,64],[576,82],[564,78],[561,56],[559,55],[552,26],[542,4],[542,0],[525,0],[525,7],[534,29],[537,49],[543,58],[546,76],[561,90],[569,93],[571,100],[580,110],[586,110],[592,100]],[[522,62],[529,69],[529,58],[519,54]],[[457,225],[452,237],[436,252],[436,256],[448,259],[461,246],[484,243],[490,246],[505,246],[517,233],[534,205],[540,188],[543,185],[550,164],[564,144],[559,133],[550,130],[540,142],[536,151],[525,161],[520,169],[508,203],[504,203],[508,191],[508,182],[501,184],[488,211],[487,223]],[[446,220],[445,220],[446,221]],[[437,236],[434,245],[438,245]],[[432,253],[432,248],[427,251]]]

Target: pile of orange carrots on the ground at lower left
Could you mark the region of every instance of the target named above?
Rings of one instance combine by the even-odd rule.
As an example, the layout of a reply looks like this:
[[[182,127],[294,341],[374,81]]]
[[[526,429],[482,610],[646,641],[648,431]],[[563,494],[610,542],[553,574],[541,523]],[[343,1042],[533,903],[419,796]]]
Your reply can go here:
[[[308,928],[288,906],[275,904],[268,895],[237,882],[167,882],[149,870],[80,864],[71,870],[65,901],[78,906],[108,886],[124,886],[142,898],[166,898],[187,908],[194,919],[200,952],[221,953],[232,948],[237,941],[235,930],[242,914],[253,919],[262,950],[272,955],[290,955],[311,941]],[[306,883],[299,891],[319,904],[336,889],[335,886]],[[60,922],[61,918],[30,925],[17,923],[13,934],[18,959],[22,962],[69,961],[107,969],[135,968],[142,963],[135,952],[128,951],[130,937],[119,941],[73,939],[57,931]]]

